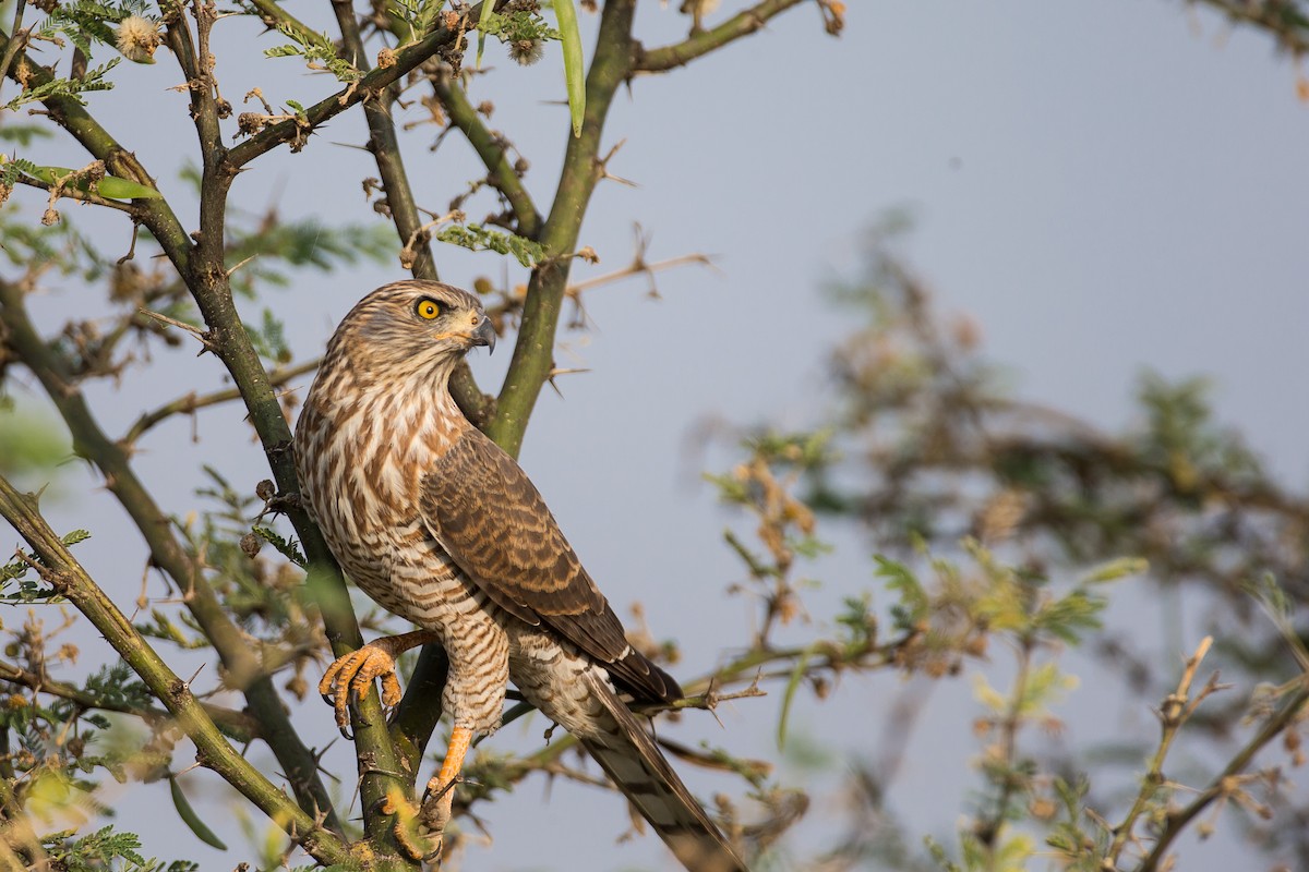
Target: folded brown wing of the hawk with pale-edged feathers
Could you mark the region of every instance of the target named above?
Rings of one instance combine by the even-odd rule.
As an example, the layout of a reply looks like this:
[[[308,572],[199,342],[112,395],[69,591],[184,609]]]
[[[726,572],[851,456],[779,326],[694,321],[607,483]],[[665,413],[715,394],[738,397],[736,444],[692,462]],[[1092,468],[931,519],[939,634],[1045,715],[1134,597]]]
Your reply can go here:
[[[423,478],[423,522],[496,605],[545,625],[606,664],[637,697],[672,701],[677,682],[627,645],[541,493],[500,446],[469,428]]]

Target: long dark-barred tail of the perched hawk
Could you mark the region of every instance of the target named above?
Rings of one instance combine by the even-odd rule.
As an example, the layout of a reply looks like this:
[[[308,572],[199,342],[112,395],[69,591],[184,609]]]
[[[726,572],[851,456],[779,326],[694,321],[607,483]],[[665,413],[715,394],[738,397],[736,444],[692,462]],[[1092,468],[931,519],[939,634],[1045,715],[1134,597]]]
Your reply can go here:
[[[691,872],[749,872],[745,862],[677,777],[640,719],[628,711],[607,682],[585,679],[594,698],[605,702],[615,729],[581,739],[601,769],[636,807],[660,838]]]

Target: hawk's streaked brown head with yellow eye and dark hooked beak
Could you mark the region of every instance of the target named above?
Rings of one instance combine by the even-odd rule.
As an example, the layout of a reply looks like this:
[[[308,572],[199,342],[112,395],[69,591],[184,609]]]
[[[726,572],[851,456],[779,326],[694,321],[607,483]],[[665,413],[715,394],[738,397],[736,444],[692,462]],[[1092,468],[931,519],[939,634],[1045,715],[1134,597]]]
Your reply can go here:
[[[445,369],[470,348],[495,349],[482,301],[439,281],[398,281],[364,297],[340,322],[327,356],[348,366],[402,374]]]

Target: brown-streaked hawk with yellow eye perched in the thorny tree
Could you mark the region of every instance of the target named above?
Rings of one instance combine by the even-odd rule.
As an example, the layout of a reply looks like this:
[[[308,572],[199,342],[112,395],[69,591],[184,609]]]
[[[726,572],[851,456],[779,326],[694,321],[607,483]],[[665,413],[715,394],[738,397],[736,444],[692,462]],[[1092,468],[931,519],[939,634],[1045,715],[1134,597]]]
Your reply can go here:
[[[471,740],[500,726],[512,680],[689,869],[745,869],[619,697],[670,702],[677,681],[627,643],[526,473],[450,396],[456,365],[495,337],[473,294],[401,281],[360,301],[327,344],[296,425],[301,498],[350,578],[421,629],[339,659],[319,690],[338,726],[377,677],[395,705],[395,658],[437,641],[453,729],[421,814],[435,833]]]

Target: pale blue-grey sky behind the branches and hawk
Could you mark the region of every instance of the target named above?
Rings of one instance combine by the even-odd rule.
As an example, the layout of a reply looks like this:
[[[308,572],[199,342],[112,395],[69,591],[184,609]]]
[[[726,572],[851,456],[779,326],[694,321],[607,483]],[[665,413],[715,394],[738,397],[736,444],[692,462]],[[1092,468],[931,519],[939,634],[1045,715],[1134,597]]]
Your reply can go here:
[[[606,143],[627,143],[610,169],[639,187],[601,187],[581,242],[602,263],[575,276],[624,264],[636,221],[653,237],[652,258],[708,252],[719,271],[662,276],[658,302],[643,295],[640,282],[592,294],[593,329],[564,335],[559,354],[562,365],[590,371],[562,379],[563,400],[542,394],[524,450],[524,465],[615,608],[626,613],[640,599],[656,635],[682,639],[679,675],[708,668],[725,639],[744,638],[746,625],[741,603],[721,595],[742,575],[720,541],[732,519],[687,475],[689,433],[707,416],[818,422],[825,356],[853,328],[825,302],[821,285],[851,275],[863,229],[891,208],[916,216],[906,244],[939,306],[980,324],[987,353],[1011,367],[1022,395],[1113,428],[1130,420],[1141,367],[1173,377],[1208,373],[1223,417],[1242,428],[1287,484],[1301,488],[1309,473],[1301,377],[1309,369],[1309,106],[1296,99],[1292,63],[1275,58],[1263,37],[1232,33],[1181,3],[848,5],[842,39],[826,37],[817,10],[805,5],[689,69],[640,78],[630,97],[618,98]],[[329,26],[326,4],[295,0],[288,8]],[[241,52],[278,39],[251,43],[255,30],[249,22],[220,25],[217,75],[229,99],[238,102],[258,84],[274,102],[308,103],[332,88],[301,76],[293,60],[279,61],[288,75],[276,82],[259,78],[263,63],[242,63]],[[637,30],[647,44],[660,44],[685,33],[685,18],[647,3]],[[547,102],[562,97],[558,55],[518,69],[492,46],[488,64],[496,69],[471,95],[496,103],[492,123],[533,162],[528,180],[543,205],[567,131],[565,110]],[[92,95],[92,109],[160,175],[166,192],[179,195],[175,154],[194,143],[183,98],[166,90],[179,76],[165,56],[156,67],[122,72],[123,88]],[[131,103],[123,101],[128,82]],[[433,135],[419,129],[406,157],[419,203],[444,210],[478,170],[457,136],[433,158],[427,150]],[[357,179],[376,170],[365,153],[332,145],[360,141],[360,122],[339,119],[302,154],[283,150],[259,161],[238,179],[236,201],[259,209],[278,192],[287,216],[367,221]],[[81,165],[73,150],[54,154],[65,159],[45,162]],[[39,214],[35,199],[25,203]],[[479,209],[470,212],[479,217]],[[90,217],[72,207],[65,213]],[[194,213],[185,221],[194,226]],[[126,247],[126,230],[103,226],[114,227],[106,241]],[[117,254],[117,243],[105,244]],[[442,248],[437,256],[442,277],[454,284],[501,275],[490,255]],[[517,280],[521,272],[511,275]],[[308,276],[268,301],[308,356],[363,293],[398,276],[394,267]],[[42,301],[46,323],[79,293]],[[147,386],[130,383],[102,403],[111,431],[161,397],[219,383],[212,358],[174,357]],[[473,366],[491,384],[507,360],[480,357]],[[202,459],[247,489],[266,475],[257,446],[230,417],[232,409],[203,413],[199,446],[181,444],[190,433],[182,421],[148,441],[141,468],[170,511],[183,515],[195,505],[190,471]],[[152,460],[166,463],[149,469]],[[82,480],[90,482],[73,473],[65,488],[76,490]],[[79,553],[128,605],[144,552],[111,502],[101,494],[51,514],[56,526],[96,531]],[[825,584],[818,604],[872,584],[859,540],[838,529],[829,537],[838,552],[816,570]],[[1115,618],[1144,612],[1135,620],[1157,628],[1138,600],[1144,588],[1121,596],[1127,605],[1115,608]],[[814,612],[825,613],[818,605]],[[84,647],[88,659],[103,656],[94,643]],[[207,675],[212,680],[212,671]],[[889,676],[847,680],[821,707],[804,699],[797,728],[839,753],[870,753],[881,713],[899,686]],[[1089,702],[1079,709],[1075,696],[1069,703],[1080,713],[1071,741],[1124,728],[1149,735],[1143,707],[1093,716],[1103,711],[1093,689],[1079,694]],[[966,767],[977,752],[967,729],[975,714],[970,692],[961,684],[936,696],[957,701],[929,710],[890,797],[914,838],[948,830],[963,811],[953,799],[978,784]],[[721,731],[707,715],[691,715],[677,735],[778,756],[776,697],[720,714]],[[334,735],[317,699],[297,722],[313,744]],[[526,748],[542,728],[533,723],[524,739],[514,724],[495,746]],[[196,773],[186,784],[199,796],[216,780]],[[692,787],[711,794],[721,783],[694,778]],[[123,825],[132,826],[136,814],[128,809],[145,803],[158,803],[168,821],[147,833],[148,852],[192,852],[188,841],[162,831],[179,828],[160,790],[132,788],[127,799]],[[585,871],[670,862],[653,837],[611,846],[626,820],[615,796],[568,784],[546,790],[533,780],[487,811],[495,845],[470,852],[466,868]],[[594,814],[593,824],[577,822],[583,811]],[[801,842],[818,838],[825,812],[819,807],[801,828]],[[196,854],[206,868],[230,868],[243,856]]]

